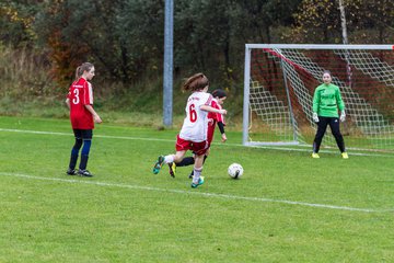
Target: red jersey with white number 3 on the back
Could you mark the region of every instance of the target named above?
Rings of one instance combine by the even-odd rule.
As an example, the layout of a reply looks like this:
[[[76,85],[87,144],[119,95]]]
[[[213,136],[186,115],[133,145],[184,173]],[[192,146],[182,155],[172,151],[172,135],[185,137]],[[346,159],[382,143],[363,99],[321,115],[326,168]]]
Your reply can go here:
[[[67,98],[70,101],[70,121],[73,129],[93,129],[92,114],[85,105],[93,105],[92,84],[83,78],[74,81]]]

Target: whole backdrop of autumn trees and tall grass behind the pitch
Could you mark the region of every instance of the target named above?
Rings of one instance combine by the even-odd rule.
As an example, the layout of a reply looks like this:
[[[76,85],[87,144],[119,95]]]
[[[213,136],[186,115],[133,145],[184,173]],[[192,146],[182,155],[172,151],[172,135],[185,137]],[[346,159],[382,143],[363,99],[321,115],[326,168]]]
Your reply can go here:
[[[344,0],[350,44],[393,43],[394,3]],[[76,67],[96,66],[96,107],[161,112],[164,0],[3,0],[0,113],[63,116]],[[175,0],[174,114],[182,78],[196,71],[224,88],[241,113],[245,43],[340,44],[337,1]],[[34,111],[34,108],[39,111]],[[43,111],[45,108],[45,111]]]

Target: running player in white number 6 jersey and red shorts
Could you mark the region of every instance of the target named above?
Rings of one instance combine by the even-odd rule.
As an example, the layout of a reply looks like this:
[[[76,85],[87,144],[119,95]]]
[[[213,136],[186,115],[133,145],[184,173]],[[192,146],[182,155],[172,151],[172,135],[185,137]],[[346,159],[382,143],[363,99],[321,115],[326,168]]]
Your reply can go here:
[[[164,163],[181,162],[187,150],[195,152],[195,165],[192,187],[195,188],[204,183],[200,176],[202,171],[202,161],[208,144],[208,112],[227,114],[227,111],[213,108],[211,106],[212,96],[207,93],[209,88],[208,78],[202,73],[192,76],[183,84],[184,91],[192,91],[187,99],[186,117],[184,119],[181,133],[176,140],[176,153],[160,156],[153,167],[153,173],[159,173]]]

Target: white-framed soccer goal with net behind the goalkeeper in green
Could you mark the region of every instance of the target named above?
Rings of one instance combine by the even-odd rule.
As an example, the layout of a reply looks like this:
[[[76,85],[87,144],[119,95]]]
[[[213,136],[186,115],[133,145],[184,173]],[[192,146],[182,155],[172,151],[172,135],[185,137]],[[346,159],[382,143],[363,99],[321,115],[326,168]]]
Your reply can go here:
[[[262,123],[264,123],[265,117],[267,115],[275,115],[276,113],[270,111],[270,108],[264,108],[264,113],[259,112],[258,114],[256,114],[257,111],[260,111],[259,108],[256,110],[256,107],[259,107],[259,105],[262,104],[262,106],[264,107],[265,105],[263,105],[264,103],[264,98],[259,98],[259,104],[253,104],[251,103],[251,100],[253,100],[253,98],[251,98],[251,90],[255,89],[256,85],[258,85],[259,88],[262,88],[264,91],[264,93],[269,93],[269,91],[267,91],[266,89],[264,89],[263,84],[260,87],[260,83],[258,83],[258,81],[254,81],[252,78],[252,72],[251,72],[251,65],[252,65],[252,50],[255,49],[262,49],[262,50],[273,50],[271,53],[276,54],[276,57],[274,59],[276,59],[276,64],[277,67],[280,68],[281,71],[281,77],[282,77],[282,85],[286,89],[286,94],[287,94],[287,100],[281,100],[281,101],[275,101],[275,99],[273,99],[274,101],[269,101],[270,104],[277,104],[274,105],[273,107],[282,107],[283,105],[286,105],[286,111],[280,113],[280,116],[276,116],[277,119],[279,121],[274,121],[274,122],[282,122],[282,119],[287,119],[287,125],[288,125],[288,138],[285,140],[254,140],[253,138],[251,138],[250,135],[250,129],[251,126],[253,125],[252,122],[252,115],[259,115],[259,121]],[[393,81],[387,84],[387,89],[394,89],[394,65],[387,64],[385,61],[370,61],[368,60],[367,64],[369,67],[376,67],[376,68],[368,68],[366,69],[364,66],[362,65],[362,62],[364,61],[363,57],[354,57],[354,53],[356,53],[357,50],[361,50],[361,53],[364,50],[366,53],[368,53],[369,50],[392,50],[394,53],[394,46],[393,45],[303,45],[303,44],[246,44],[245,45],[245,67],[244,67],[244,101],[243,101],[243,145],[244,146],[281,146],[281,145],[311,145],[311,136],[305,140],[304,136],[302,135],[302,132],[300,132],[300,128],[297,125],[297,119],[294,118],[294,114],[293,114],[293,110],[292,110],[292,100],[294,100],[294,98],[290,98],[290,91],[289,91],[289,83],[292,84],[294,81],[299,81],[299,80],[294,80],[294,79],[290,79],[293,78],[293,76],[289,76],[292,72],[293,67],[300,67],[302,68],[302,70],[304,70],[305,72],[310,73],[310,76],[312,76],[314,78],[314,81],[321,81],[320,76],[321,72],[323,72],[324,70],[326,70],[326,68],[320,67],[318,65],[316,65],[315,62],[313,62],[312,60],[308,60],[308,57],[302,57],[300,58],[300,61],[297,60],[298,58],[296,58],[296,60],[292,60],[291,56],[288,57],[287,52],[294,52],[294,53],[302,53],[303,50],[332,50],[333,53],[336,50],[339,50],[339,55],[338,60],[341,59],[343,64],[347,65],[347,68],[344,68],[343,71],[347,71],[348,70],[358,70],[359,72],[364,72],[368,78],[373,78],[374,81],[384,81],[383,78],[386,77],[381,77],[383,75],[392,75]],[[285,52],[287,50],[287,52]],[[301,55],[303,56],[303,55]],[[371,57],[369,54],[367,55],[369,57]],[[369,58],[368,57],[368,58]],[[374,59],[374,57],[373,57]],[[308,60],[308,61],[306,61]],[[306,62],[305,62],[306,61]],[[305,65],[303,65],[303,62],[305,62]],[[393,61],[394,64],[394,61]],[[313,68],[312,66],[313,65]],[[309,68],[311,66],[311,68]],[[352,69],[351,69],[352,68]],[[329,69],[328,69],[329,70]],[[367,72],[367,71],[371,71],[371,72]],[[383,72],[384,71],[384,72]],[[351,71],[350,73],[347,72],[349,76],[351,76]],[[297,72],[294,71],[293,75],[297,75]],[[346,72],[345,72],[346,75]],[[366,78],[367,78],[366,77]],[[349,77],[350,78],[350,77]],[[335,80],[337,82],[335,82]],[[333,83],[337,84],[341,91],[344,91],[345,89],[349,89],[349,87],[345,87],[345,84],[338,84],[338,82],[340,83],[340,80],[338,78],[336,78],[335,75],[333,75]],[[351,82],[350,82],[351,83]],[[302,83],[301,83],[302,85]],[[350,84],[351,85],[351,84]],[[294,93],[294,90],[297,90],[297,88],[292,87],[292,93]],[[350,87],[351,90],[351,87]],[[304,91],[303,91],[304,92]],[[361,110],[357,108],[357,105],[355,105],[355,102],[351,101],[352,96],[357,96],[357,100],[363,100],[359,94],[357,94],[357,92],[352,92],[351,93],[347,93],[347,92],[341,92],[343,93],[343,99],[345,101],[345,105],[346,105],[346,111],[348,116],[351,117],[351,119],[355,123],[355,126],[357,125],[361,125],[364,124],[366,122],[370,122],[370,118],[373,118],[371,122],[379,122],[379,127],[369,127],[369,129],[373,129],[373,133],[371,132],[366,132],[366,138],[371,138],[373,137],[374,140],[382,140],[382,144],[387,144],[387,145],[392,145],[393,149],[394,149],[394,119],[385,119],[383,117],[383,115],[381,115],[378,111],[370,110],[371,105],[368,102],[363,102],[364,106],[366,106],[366,111],[371,111],[373,112],[372,117],[371,116],[361,116]],[[283,92],[285,94],[285,92]],[[304,98],[303,100],[303,104],[302,104],[302,111],[303,114],[305,115],[304,118],[308,119],[308,122],[310,123],[310,128],[312,130],[315,130],[315,124],[312,121],[312,98],[313,98],[313,93],[311,91],[305,92],[306,98]],[[298,98],[300,99],[300,98]],[[306,100],[308,99],[308,100]],[[267,102],[268,103],[268,102]],[[309,105],[308,105],[309,103]],[[356,102],[357,104],[358,102]],[[394,103],[394,101],[393,101]],[[280,105],[279,105],[280,104]],[[270,117],[270,116],[268,116]],[[267,118],[268,118],[267,117]],[[273,117],[274,119],[274,117]],[[358,121],[360,119],[360,121]],[[357,123],[358,122],[358,123]],[[268,124],[267,124],[268,125]],[[359,127],[358,127],[359,128]],[[279,128],[278,128],[279,129]],[[359,128],[361,130],[363,130],[363,128]],[[380,132],[376,130],[384,130],[384,135],[383,134],[376,134]],[[329,129],[327,130],[327,133],[329,132]],[[325,136],[324,140],[323,140],[323,145],[326,146],[335,146],[335,142],[333,144],[333,138],[327,138],[327,137],[333,137],[331,135]],[[345,142],[346,142],[346,138],[345,138]],[[347,146],[347,148],[351,148]],[[356,147],[357,148],[357,147]],[[385,147],[382,147],[383,149]],[[376,149],[381,149],[380,146],[376,147]],[[369,150],[368,147],[366,150]]]

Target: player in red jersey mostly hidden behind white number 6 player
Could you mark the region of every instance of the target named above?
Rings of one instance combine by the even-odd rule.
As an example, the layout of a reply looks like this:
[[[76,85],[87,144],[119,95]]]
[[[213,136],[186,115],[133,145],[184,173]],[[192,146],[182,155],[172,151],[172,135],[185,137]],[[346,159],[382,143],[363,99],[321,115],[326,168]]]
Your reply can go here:
[[[222,105],[224,103],[224,100],[227,99],[227,94],[225,91],[221,90],[221,89],[217,89],[212,92],[212,103],[211,106],[218,110],[222,108]],[[227,141],[227,136],[224,133],[224,116],[220,113],[208,113],[208,134],[207,134],[207,140],[208,140],[208,150],[205,153],[204,157],[204,161],[202,164],[205,163],[205,161],[208,158],[208,155],[210,152],[210,145],[213,140],[213,134],[215,134],[215,128],[216,125],[218,125],[219,130],[221,133],[221,137],[222,137],[222,142]],[[195,158],[193,157],[186,157],[184,158],[181,162],[176,163],[176,162],[172,162],[169,163],[170,167],[170,175],[175,178],[175,172],[176,172],[176,168],[177,167],[187,167],[187,165],[192,165],[195,163]],[[190,172],[189,178],[193,178],[194,175],[194,171]]]

